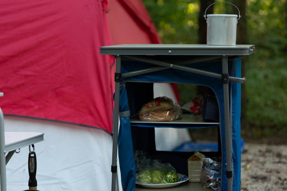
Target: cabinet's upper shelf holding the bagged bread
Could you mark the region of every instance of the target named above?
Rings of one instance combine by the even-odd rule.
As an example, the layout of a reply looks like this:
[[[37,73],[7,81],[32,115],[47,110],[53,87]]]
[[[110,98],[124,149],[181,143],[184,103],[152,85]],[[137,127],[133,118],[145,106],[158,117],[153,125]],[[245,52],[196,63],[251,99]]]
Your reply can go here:
[[[133,115],[131,118],[131,123],[152,123],[152,124],[206,124],[206,125],[219,125],[219,122],[204,121],[202,116],[192,117],[190,113],[183,113],[181,119],[174,121],[141,121],[139,120],[139,115]]]

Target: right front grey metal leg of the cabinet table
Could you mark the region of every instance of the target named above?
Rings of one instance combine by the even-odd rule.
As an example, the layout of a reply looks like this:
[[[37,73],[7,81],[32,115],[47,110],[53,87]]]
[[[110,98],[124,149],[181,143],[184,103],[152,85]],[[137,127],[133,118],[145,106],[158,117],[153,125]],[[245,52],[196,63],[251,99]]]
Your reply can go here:
[[[226,149],[226,177],[227,189],[232,191],[232,151],[230,140],[230,110],[229,110],[229,77],[228,77],[227,56],[222,56],[222,83],[224,99],[224,130],[225,130],[225,149]]]

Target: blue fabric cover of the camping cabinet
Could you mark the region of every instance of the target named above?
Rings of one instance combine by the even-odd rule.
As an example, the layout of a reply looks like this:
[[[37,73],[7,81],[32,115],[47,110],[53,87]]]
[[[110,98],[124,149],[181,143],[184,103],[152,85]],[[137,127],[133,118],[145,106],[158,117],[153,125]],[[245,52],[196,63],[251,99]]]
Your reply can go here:
[[[144,68],[154,67],[153,64],[145,62],[122,60],[121,73],[131,72],[135,70],[141,70]],[[200,70],[222,73],[222,63],[218,62],[200,62],[196,64],[187,65],[192,68]],[[233,71],[234,69],[234,71]],[[241,78],[241,58],[228,61],[228,73],[229,75],[234,73],[235,77]],[[200,74],[194,74],[176,69],[165,69],[148,74],[141,74],[124,78],[125,81],[130,82],[175,82],[175,83],[188,83],[208,86],[214,90],[219,103],[220,108],[220,134],[221,134],[221,146],[222,146],[222,178],[221,178],[221,190],[227,190],[227,178],[226,178],[226,153],[225,153],[225,131],[224,131],[224,101],[223,101],[223,86],[221,79],[203,76]],[[240,174],[241,174],[241,132],[240,132],[240,114],[241,114],[241,84],[236,82],[230,82],[230,132],[229,135],[232,140],[232,189],[233,191],[240,190]],[[120,111],[128,111],[129,105],[127,100],[127,93],[125,87],[120,91]],[[154,125],[153,125],[154,126]],[[180,126],[177,128],[181,128]],[[184,128],[187,128],[184,126]],[[125,191],[135,190],[135,164],[133,158],[133,141],[131,138],[131,126],[129,117],[123,117],[120,119],[119,129],[119,164],[121,169],[121,180]]]

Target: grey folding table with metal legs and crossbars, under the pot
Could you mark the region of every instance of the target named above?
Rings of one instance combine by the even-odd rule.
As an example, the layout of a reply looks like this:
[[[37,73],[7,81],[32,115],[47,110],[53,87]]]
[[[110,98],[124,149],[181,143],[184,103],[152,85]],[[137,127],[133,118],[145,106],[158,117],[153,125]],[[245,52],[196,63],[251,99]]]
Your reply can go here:
[[[119,117],[119,91],[121,78],[135,76],[139,74],[146,74],[166,68],[174,68],[204,76],[222,79],[223,96],[224,96],[224,125],[226,135],[230,135],[230,114],[229,114],[229,81],[244,83],[245,78],[237,78],[229,76],[228,74],[228,56],[243,56],[249,55],[255,51],[254,45],[234,45],[234,46],[215,46],[206,44],[122,44],[113,46],[100,47],[100,54],[115,55],[116,56],[116,72],[115,72],[115,108],[113,121],[113,134],[118,134],[118,117]],[[143,56],[144,55],[144,56]],[[204,70],[197,70],[184,65],[171,64],[164,61],[153,60],[152,56],[147,55],[202,55],[201,60],[195,62],[207,61],[220,58],[222,60],[222,74],[208,72]],[[206,56],[206,59],[204,58]],[[137,61],[143,61],[150,64],[155,64],[161,67],[148,68],[141,71],[134,71],[121,74],[121,58],[128,58]],[[192,61],[187,61],[191,63]],[[113,136],[113,155],[112,155],[112,191],[115,190],[116,170],[117,166],[117,136]],[[226,174],[228,191],[232,190],[232,151],[230,136],[225,136],[226,143]]]

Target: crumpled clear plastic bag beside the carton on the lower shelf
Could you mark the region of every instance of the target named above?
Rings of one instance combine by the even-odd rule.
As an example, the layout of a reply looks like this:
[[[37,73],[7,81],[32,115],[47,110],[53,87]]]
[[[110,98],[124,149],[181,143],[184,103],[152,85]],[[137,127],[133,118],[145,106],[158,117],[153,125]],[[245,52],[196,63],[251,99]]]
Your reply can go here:
[[[213,190],[220,191],[221,181],[221,163],[220,157],[211,159],[206,157],[202,153],[195,151],[195,155],[198,156],[203,162],[203,168],[200,174],[200,181],[203,188],[212,188]]]

